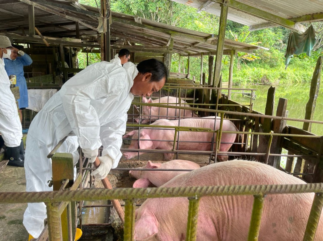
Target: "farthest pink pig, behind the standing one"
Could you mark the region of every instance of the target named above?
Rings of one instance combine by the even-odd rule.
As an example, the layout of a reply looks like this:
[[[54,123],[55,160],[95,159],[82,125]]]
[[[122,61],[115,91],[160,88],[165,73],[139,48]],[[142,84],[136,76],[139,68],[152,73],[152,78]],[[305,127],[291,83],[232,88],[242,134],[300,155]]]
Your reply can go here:
[[[181,105],[179,105],[179,99],[173,96],[165,96],[157,100],[151,100],[151,98],[147,100],[146,97],[142,97],[142,102],[143,103],[174,103],[169,105],[191,107],[184,100],[181,100]],[[180,116],[198,117],[198,115],[196,115],[194,111],[190,111],[190,110],[179,110],[179,109],[173,109],[173,108],[154,107],[154,106],[142,106],[141,124],[149,123],[150,120],[151,122],[154,122],[159,119],[159,116],[161,116],[161,119],[168,119],[168,120],[177,120]],[[139,119],[135,119],[135,121],[139,122]]]

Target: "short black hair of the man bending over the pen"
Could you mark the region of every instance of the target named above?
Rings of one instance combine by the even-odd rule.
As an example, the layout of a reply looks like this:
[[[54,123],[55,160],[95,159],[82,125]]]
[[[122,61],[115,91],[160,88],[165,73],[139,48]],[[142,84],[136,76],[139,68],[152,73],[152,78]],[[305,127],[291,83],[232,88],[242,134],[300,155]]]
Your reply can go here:
[[[160,81],[163,77],[165,77],[165,83],[167,82],[167,71],[164,63],[157,59],[147,59],[141,61],[137,65],[137,69],[140,73],[151,73],[150,81]]]

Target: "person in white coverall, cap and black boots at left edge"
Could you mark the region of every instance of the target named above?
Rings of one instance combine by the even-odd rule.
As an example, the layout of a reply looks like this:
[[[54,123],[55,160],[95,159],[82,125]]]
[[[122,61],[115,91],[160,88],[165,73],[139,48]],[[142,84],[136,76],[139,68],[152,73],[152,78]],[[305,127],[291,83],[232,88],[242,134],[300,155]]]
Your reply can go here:
[[[10,57],[11,48],[9,38],[0,36],[0,132],[6,146],[8,165],[23,167],[24,160],[20,156],[20,145],[23,145],[22,128],[16,100],[10,90],[10,81],[7,72],[5,72],[3,60]]]

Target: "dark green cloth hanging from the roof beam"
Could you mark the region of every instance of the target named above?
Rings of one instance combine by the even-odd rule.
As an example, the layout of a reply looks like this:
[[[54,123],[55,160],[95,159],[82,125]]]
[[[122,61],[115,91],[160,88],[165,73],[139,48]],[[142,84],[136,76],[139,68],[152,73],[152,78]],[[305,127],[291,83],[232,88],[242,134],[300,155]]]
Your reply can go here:
[[[310,57],[315,41],[315,30],[312,24],[303,34],[298,34],[296,32],[290,33],[285,54],[285,69],[287,69],[288,63],[293,57],[293,54],[306,53],[307,56]]]

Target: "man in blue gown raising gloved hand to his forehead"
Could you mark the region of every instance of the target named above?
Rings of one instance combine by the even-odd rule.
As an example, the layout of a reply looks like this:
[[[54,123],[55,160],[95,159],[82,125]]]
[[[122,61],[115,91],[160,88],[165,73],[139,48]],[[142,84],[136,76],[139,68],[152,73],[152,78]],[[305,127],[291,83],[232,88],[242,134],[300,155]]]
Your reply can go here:
[[[5,58],[5,71],[8,76],[16,75],[16,86],[19,87],[20,98],[18,99],[20,123],[22,122],[22,110],[28,107],[28,91],[27,83],[24,76],[24,66],[33,63],[33,60],[28,54],[21,49],[23,46],[12,44],[11,54]]]

